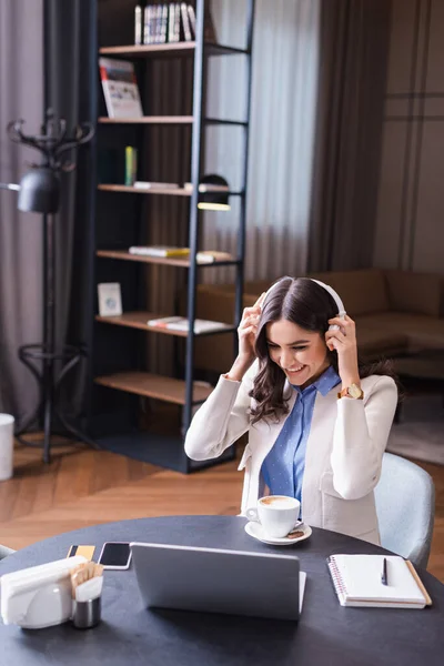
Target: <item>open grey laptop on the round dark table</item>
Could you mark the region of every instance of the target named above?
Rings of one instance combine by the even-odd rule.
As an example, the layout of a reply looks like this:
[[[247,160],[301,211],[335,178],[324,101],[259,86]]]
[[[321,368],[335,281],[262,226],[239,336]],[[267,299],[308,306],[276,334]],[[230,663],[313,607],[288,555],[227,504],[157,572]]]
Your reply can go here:
[[[295,555],[131,543],[148,608],[297,620],[305,586]]]

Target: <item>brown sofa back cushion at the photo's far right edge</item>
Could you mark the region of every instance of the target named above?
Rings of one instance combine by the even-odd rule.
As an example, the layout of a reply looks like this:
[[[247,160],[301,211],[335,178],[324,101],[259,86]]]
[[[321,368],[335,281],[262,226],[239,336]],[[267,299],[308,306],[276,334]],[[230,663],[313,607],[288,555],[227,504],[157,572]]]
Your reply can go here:
[[[385,271],[390,309],[440,316],[442,278],[413,271]]]

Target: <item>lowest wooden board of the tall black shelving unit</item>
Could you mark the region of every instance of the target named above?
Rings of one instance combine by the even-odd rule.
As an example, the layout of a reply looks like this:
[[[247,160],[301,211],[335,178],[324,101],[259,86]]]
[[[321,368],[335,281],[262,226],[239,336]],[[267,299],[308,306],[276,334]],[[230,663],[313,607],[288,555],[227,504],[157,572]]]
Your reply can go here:
[[[95,377],[94,382],[102,386],[153,397],[176,405],[185,404],[185,382],[164,377],[149,372],[119,372]],[[208,398],[212,389],[194,383],[193,401],[202,402]]]

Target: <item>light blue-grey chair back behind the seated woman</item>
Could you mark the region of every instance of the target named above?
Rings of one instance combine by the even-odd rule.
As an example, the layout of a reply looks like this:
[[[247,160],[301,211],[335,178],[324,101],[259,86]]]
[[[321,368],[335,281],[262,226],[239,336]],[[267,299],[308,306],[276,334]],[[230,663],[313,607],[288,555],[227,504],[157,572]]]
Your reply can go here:
[[[426,568],[435,516],[435,486],[427,472],[384,453],[375,487],[381,545]]]

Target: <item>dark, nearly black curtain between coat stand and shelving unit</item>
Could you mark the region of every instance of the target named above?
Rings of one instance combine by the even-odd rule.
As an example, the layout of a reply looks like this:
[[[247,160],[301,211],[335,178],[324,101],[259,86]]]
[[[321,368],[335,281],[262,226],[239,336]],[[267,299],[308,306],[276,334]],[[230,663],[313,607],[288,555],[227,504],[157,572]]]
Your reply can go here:
[[[46,0],[47,95],[68,134],[97,118],[97,3]],[[95,201],[94,142],[65,153],[77,169],[62,173],[56,219],[56,343],[92,347],[93,229]],[[78,416],[89,401],[87,364],[63,384],[62,410]]]

